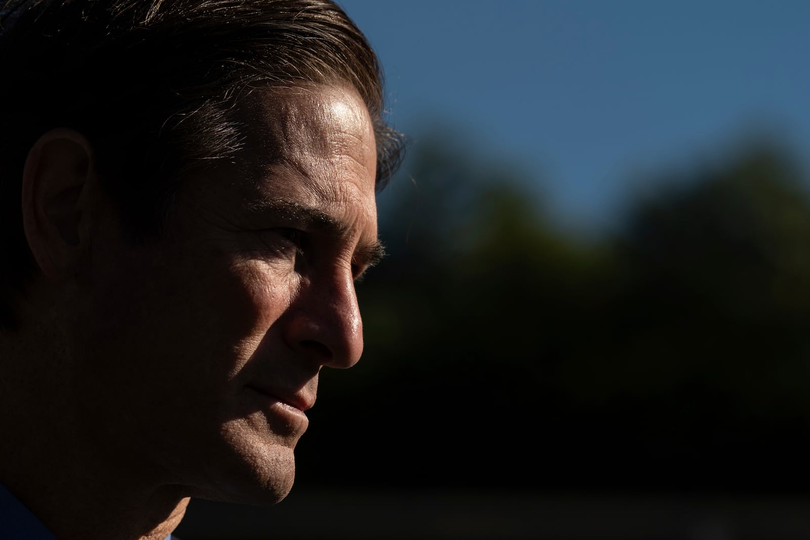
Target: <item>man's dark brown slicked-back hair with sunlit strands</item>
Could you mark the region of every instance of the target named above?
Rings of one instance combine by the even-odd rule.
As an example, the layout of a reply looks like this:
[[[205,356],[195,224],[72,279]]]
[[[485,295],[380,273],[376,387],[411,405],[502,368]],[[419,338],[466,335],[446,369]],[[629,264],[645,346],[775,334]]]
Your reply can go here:
[[[236,163],[255,88],[354,87],[373,121],[377,189],[403,138],[384,117],[382,70],[329,0],[0,0],[0,325],[33,269],[23,234],[23,165],[66,127],[92,143],[96,171],[133,242],[160,236],[195,172]]]

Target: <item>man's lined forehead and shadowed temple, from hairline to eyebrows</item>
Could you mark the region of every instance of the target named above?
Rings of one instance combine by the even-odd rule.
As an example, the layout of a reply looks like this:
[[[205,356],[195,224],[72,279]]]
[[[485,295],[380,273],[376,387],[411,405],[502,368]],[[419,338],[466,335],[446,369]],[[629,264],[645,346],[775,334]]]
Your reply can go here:
[[[232,164],[185,183],[192,205],[237,228],[261,228],[273,208],[308,207],[376,241],[376,144],[356,91],[256,89],[237,114],[243,147]]]

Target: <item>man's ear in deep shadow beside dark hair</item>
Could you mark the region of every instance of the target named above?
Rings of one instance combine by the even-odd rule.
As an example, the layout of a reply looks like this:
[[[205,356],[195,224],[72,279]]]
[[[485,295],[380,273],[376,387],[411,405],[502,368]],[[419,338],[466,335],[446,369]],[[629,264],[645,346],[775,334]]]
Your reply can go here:
[[[75,274],[87,250],[87,191],[94,182],[90,142],[74,130],[51,130],[28,152],[23,169],[23,228],[49,279]]]

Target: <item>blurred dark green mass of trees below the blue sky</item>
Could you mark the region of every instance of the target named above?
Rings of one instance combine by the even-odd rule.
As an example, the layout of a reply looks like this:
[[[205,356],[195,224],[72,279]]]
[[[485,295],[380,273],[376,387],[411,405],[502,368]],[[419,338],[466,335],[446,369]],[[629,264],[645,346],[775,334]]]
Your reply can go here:
[[[381,195],[364,359],[323,372],[303,483],[804,487],[810,200],[789,159],[747,148],[589,244],[448,140]]]

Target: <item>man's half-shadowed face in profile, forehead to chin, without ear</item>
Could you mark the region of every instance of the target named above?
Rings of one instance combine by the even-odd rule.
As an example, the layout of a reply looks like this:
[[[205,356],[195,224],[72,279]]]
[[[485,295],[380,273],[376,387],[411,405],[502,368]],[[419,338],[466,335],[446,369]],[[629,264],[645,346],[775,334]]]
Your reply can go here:
[[[279,500],[319,369],[360,358],[353,280],[379,251],[369,113],[340,87],[261,101],[246,141],[260,165],[185,181],[160,240],[127,244],[112,204],[96,206],[66,384],[97,459],[130,464],[122,483]]]

